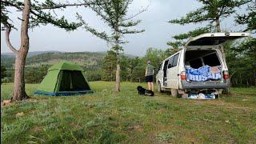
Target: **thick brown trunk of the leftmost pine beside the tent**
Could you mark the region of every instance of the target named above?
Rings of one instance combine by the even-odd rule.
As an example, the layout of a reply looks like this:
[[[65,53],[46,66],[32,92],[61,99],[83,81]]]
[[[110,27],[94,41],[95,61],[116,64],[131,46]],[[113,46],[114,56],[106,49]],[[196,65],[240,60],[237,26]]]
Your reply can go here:
[[[21,28],[21,47],[16,54],[15,59],[15,74],[14,74],[14,100],[22,100],[27,98],[25,91],[25,64],[26,54],[29,51],[29,18],[30,18],[30,0],[24,0],[24,8],[22,10],[22,28]]]

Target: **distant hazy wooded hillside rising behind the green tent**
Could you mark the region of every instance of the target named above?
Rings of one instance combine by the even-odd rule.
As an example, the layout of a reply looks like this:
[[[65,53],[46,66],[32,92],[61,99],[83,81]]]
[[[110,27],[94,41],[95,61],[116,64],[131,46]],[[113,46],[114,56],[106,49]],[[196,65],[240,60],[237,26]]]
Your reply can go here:
[[[26,59],[26,66],[53,65],[62,60],[75,62],[86,68],[97,69],[102,66],[102,60],[106,52],[61,52],[61,51],[34,51],[29,52]],[[127,57],[134,55],[126,54]],[[14,54],[2,53],[1,64],[7,68],[13,67],[15,62]]]

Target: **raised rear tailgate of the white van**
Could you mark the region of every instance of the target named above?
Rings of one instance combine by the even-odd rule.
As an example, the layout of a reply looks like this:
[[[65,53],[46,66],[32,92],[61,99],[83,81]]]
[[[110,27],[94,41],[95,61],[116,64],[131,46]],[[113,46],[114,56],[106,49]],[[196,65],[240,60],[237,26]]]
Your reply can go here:
[[[227,41],[248,37],[249,33],[207,33],[190,38],[186,47],[193,46],[218,46]]]

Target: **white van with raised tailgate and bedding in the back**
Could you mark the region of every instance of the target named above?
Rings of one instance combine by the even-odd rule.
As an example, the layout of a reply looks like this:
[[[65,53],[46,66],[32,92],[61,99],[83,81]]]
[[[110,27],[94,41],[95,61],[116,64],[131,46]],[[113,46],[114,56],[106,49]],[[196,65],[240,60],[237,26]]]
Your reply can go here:
[[[158,92],[170,90],[173,96],[177,96],[187,94],[190,90],[218,90],[230,87],[222,44],[248,36],[248,33],[208,33],[190,38],[186,45],[182,46],[182,50],[160,64],[156,75]],[[205,70],[215,70],[216,78],[211,77],[210,74],[205,77],[193,75],[197,74],[198,68],[202,69],[204,66]]]

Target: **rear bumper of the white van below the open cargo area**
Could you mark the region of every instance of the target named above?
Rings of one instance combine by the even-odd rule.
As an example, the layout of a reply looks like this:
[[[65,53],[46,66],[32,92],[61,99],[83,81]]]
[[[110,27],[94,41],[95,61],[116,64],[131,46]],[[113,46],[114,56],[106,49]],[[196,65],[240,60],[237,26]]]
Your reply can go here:
[[[187,89],[224,89],[230,87],[230,80],[226,82],[186,82],[182,81],[182,90]]]

